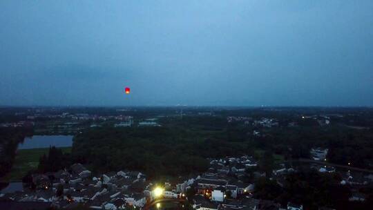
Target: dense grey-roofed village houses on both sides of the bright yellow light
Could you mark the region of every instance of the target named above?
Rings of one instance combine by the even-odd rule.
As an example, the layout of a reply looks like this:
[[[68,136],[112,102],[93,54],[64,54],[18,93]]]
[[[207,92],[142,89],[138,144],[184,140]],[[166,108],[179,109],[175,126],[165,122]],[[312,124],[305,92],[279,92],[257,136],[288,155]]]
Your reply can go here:
[[[249,195],[254,185],[243,182],[240,177],[248,167],[256,162],[247,156],[210,160],[210,168],[196,178],[180,183],[165,183],[166,191],[162,197],[180,199],[190,188],[195,189],[191,202],[195,209],[204,209],[206,205],[213,209],[231,207],[251,207],[259,204],[257,200],[245,198],[234,201],[243,195]],[[33,174],[31,189],[15,193],[0,194],[1,200],[13,202],[42,202],[57,208],[73,208],[84,204],[90,209],[142,209],[155,197],[152,193],[155,185],[146,180],[146,175],[135,171],[118,171],[93,175],[82,164],[73,164],[69,169],[56,173]],[[163,185],[163,184],[162,184]],[[238,204],[240,202],[240,204]],[[255,204],[255,205],[254,205]]]

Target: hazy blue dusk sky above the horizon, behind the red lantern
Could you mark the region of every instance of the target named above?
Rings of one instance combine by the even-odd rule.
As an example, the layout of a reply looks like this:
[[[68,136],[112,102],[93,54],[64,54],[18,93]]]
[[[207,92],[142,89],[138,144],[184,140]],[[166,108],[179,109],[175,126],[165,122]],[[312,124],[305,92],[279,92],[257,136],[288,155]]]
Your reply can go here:
[[[2,0],[0,26],[0,105],[373,105],[372,0]]]

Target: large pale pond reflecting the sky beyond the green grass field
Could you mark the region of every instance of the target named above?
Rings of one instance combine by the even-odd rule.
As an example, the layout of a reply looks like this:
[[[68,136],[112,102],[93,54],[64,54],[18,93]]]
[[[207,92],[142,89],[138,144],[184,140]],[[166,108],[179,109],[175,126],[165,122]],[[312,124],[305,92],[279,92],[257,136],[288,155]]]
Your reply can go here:
[[[33,135],[32,137],[26,137],[25,140],[18,145],[18,149],[72,146],[73,137],[73,135]]]

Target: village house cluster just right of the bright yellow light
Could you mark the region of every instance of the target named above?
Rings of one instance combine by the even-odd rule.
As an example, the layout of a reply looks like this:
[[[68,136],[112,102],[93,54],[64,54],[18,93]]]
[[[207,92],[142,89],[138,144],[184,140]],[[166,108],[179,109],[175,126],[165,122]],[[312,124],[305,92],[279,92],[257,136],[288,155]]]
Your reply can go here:
[[[245,182],[244,177],[245,171],[257,164],[252,157],[246,155],[240,158],[213,159],[206,173],[177,184],[176,189],[182,193],[192,187],[195,189],[190,202],[196,210],[281,209],[280,204],[274,201],[253,198],[254,184]],[[265,175],[258,171],[255,173],[256,176]],[[303,206],[289,203],[286,209],[302,210]]]

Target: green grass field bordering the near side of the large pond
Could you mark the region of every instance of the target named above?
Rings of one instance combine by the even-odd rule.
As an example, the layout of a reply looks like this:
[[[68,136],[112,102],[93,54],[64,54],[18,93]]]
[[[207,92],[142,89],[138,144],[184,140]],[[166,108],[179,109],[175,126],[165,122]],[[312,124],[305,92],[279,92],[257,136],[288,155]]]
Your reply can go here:
[[[71,147],[61,147],[64,153],[71,153]],[[32,169],[37,169],[39,158],[48,153],[49,148],[20,149],[17,151],[15,163],[10,172],[1,178],[1,182],[16,182]]]

